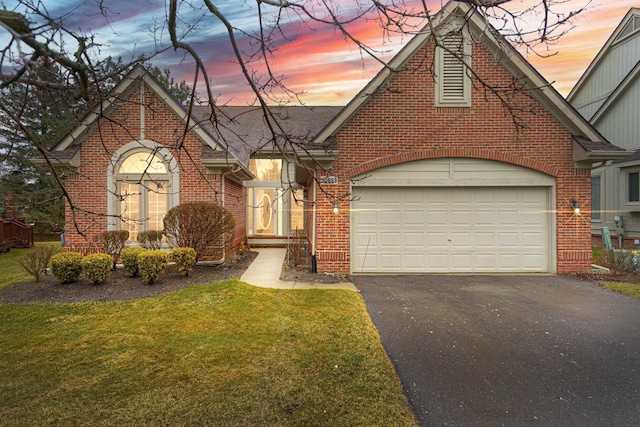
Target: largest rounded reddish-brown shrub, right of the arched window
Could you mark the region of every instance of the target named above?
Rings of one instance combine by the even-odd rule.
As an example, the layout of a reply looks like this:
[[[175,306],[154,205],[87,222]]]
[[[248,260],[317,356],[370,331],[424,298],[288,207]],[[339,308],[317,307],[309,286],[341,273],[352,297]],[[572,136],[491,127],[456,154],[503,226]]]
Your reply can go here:
[[[193,248],[196,262],[209,246],[222,251],[235,236],[233,215],[213,203],[191,202],[175,206],[167,212],[163,222],[169,244]]]

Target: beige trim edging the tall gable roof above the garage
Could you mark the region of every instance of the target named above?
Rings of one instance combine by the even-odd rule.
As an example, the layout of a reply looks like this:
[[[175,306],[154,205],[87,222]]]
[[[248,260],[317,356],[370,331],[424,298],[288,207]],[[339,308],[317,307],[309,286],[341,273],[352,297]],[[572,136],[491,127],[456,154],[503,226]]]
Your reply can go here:
[[[514,76],[526,83],[540,101],[574,136],[589,144],[577,144],[577,162],[595,162],[624,157],[629,152],[609,142],[585,120],[486,19],[465,2],[449,1],[409,43],[367,84],[351,102],[317,135],[315,142],[323,143],[344,126],[384,84],[393,77],[394,70],[403,66],[432,37],[431,29],[442,28],[451,19],[463,17],[469,30],[481,36],[483,44]],[[480,37],[478,37],[480,38]]]

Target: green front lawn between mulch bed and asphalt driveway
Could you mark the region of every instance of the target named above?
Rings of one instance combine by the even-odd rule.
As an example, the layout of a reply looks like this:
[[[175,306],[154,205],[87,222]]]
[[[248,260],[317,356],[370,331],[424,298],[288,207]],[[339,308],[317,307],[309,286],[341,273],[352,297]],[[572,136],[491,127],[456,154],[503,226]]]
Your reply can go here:
[[[416,425],[357,293],[235,280],[133,301],[0,304],[0,420]]]

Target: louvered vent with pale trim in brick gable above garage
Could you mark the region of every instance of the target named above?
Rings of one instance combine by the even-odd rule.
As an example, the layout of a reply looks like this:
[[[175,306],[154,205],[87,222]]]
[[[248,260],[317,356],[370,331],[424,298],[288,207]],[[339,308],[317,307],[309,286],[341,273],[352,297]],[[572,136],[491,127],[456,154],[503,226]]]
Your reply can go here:
[[[436,107],[471,106],[471,45],[464,33],[453,31],[439,39],[435,54]]]

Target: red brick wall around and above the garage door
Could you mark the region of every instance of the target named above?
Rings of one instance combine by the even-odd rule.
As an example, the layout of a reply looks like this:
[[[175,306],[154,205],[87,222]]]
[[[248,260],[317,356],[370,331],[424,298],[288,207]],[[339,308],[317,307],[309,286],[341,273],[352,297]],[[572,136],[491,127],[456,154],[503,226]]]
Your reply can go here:
[[[473,67],[491,87],[509,87],[511,74],[482,46],[473,46]],[[338,156],[327,174],[338,185],[317,195],[317,265],[319,272],[350,273],[349,179],[376,168],[438,157],[498,160],[556,177],[557,272],[587,270],[591,264],[590,220],[569,211],[575,198],[590,200],[589,170],[576,170],[571,134],[535,99],[513,94],[524,128],[516,130],[497,96],[477,80],[470,108],[436,108],[431,73],[432,48],[425,47],[371,96],[336,134]],[[319,172],[322,175],[322,172]],[[345,197],[347,195],[347,197]],[[331,210],[340,202],[338,215]]]

